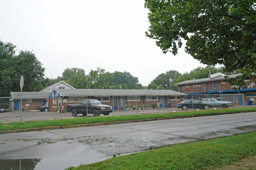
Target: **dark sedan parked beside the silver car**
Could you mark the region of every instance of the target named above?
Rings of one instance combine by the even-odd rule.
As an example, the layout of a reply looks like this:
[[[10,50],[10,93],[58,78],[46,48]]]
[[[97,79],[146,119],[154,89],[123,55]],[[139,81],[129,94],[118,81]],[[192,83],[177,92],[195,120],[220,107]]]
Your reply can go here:
[[[208,109],[208,108],[213,108],[212,104],[207,104],[205,102],[201,102],[195,99],[190,99],[186,100],[183,102],[178,102],[177,107],[182,109],[182,110],[187,110],[187,109]]]

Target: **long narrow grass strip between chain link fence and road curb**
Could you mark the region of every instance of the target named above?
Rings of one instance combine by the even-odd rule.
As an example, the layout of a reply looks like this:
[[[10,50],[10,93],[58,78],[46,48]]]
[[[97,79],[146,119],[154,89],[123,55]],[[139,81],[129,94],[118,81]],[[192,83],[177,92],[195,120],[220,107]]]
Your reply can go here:
[[[1,123],[0,131],[4,130],[17,130],[26,128],[42,128],[50,126],[70,126],[74,124],[89,124],[99,122],[118,122],[118,121],[130,121],[140,119],[156,119],[163,117],[189,117],[193,115],[208,115],[214,113],[242,113],[248,111],[256,111],[256,107],[252,108],[229,108],[229,109],[210,109],[210,110],[199,110],[199,111],[184,111],[184,112],[171,112],[163,114],[147,114],[147,115],[123,115],[123,116],[98,116],[98,117],[82,117],[75,119],[57,119],[57,120],[46,120],[46,121],[26,121],[22,122],[10,122]]]

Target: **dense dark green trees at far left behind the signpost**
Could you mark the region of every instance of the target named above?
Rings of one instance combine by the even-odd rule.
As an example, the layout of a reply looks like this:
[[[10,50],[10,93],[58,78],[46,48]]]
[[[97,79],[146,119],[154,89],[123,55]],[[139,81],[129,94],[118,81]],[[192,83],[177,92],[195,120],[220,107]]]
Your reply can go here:
[[[16,46],[0,40],[0,96],[9,96],[10,91],[20,91],[20,77],[24,77],[22,91],[39,91],[43,88],[44,71],[31,51],[16,53]]]

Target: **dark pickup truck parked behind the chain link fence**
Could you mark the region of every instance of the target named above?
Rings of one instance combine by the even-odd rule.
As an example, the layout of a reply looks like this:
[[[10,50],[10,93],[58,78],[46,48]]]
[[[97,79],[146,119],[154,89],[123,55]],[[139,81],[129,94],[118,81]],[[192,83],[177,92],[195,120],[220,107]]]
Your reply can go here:
[[[77,114],[83,114],[86,116],[88,114],[93,114],[93,116],[98,116],[100,114],[109,115],[113,112],[111,106],[102,104],[96,99],[83,100],[82,104],[67,104],[67,112],[71,112],[72,116]]]

